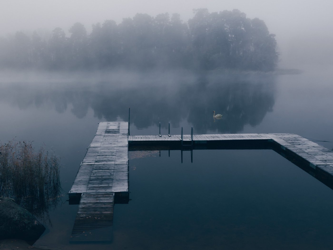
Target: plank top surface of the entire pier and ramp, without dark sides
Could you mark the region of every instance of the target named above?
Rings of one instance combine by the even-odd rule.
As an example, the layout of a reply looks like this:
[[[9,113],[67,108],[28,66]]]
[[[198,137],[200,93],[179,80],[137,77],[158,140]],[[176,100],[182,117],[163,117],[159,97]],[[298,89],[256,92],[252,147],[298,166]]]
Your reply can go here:
[[[81,163],[69,194],[82,194],[73,227],[73,242],[111,239],[115,192],[128,192],[129,143],[170,143],[181,135],[131,135],[127,122],[101,122]],[[191,135],[183,135],[190,141]],[[193,135],[193,144],[207,141],[262,140],[291,152],[314,169],[333,176],[333,151],[296,134]],[[165,145],[165,144],[164,144]],[[107,229],[101,231],[101,229]],[[106,232],[106,233],[105,233]]]

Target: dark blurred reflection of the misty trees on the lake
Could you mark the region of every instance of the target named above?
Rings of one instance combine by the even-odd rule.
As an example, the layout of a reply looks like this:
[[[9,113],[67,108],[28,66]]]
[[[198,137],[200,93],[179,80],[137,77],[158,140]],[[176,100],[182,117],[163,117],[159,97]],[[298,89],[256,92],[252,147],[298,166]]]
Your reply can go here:
[[[187,120],[196,133],[237,133],[246,124],[258,125],[272,111],[275,80],[274,74],[256,72],[122,72],[74,78],[66,85],[60,80],[51,86],[10,84],[0,87],[0,98],[20,109],[47,106],[63,113],[71,108],[78,118],[92,108],[94,116],[107,121],[127,121],[131,107],[131,125],[138,129],[159,122],[164,128],[168,122],[180,127]],[[223,115],[218,123],[211,119],[213,110]]]

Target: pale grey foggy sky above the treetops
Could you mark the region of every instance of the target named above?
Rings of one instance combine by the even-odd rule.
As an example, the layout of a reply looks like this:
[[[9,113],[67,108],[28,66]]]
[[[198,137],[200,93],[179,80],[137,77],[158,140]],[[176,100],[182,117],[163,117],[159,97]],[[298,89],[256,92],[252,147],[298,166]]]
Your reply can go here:
[[[0,35],[34,30],[51,33],[56,27],[68,32],[76,22],[90,32],[92,24],[107,19],[120,23],[136,13],[179,13],[187,21],[197,8],[209,12],[239,9],[248,18],[264,20],[276,35],[282,65],[333,64],[331,0],[0,0],[0,6]]]

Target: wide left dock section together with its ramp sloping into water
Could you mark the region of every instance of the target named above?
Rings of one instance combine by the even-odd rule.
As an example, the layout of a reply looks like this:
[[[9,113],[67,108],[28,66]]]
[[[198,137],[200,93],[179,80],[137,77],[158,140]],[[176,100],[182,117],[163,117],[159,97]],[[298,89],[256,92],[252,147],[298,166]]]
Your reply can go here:
[[[112,226],[115,194],[128,193],[127,133],[127,122],[100,123],[69,192],[80,200],[71,242],[111,240],[99,229]]]

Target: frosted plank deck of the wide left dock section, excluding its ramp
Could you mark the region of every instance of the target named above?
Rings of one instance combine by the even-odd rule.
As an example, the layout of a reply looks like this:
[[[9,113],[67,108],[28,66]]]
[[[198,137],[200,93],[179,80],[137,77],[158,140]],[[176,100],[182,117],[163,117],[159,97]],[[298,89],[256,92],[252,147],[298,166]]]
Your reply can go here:
[[[128,123],[101,122],[70,193],[128,192]],[[100,172],[104,169],[105,176]],[[117,172],[120,172],[117,174]],[[121,179],[119,179],[121,176]],[[117,179],[118,178],[118,179]],[[120,184],[121,181],[123,184]],[[114,182],[115,181],[115,182]],[[115,186],[113,185],[115,183]],[[98,187],[101,187],[100,189]],[[114,188],[113,188],[114,187]]]

